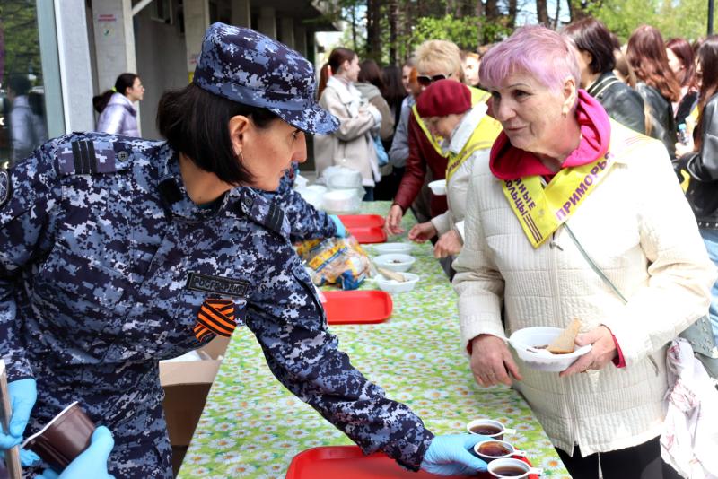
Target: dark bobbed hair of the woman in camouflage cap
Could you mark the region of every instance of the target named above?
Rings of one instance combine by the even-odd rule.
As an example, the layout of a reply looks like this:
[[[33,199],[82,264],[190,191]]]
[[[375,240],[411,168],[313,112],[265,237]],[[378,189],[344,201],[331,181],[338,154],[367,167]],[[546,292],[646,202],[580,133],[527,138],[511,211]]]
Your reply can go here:
[[[215,173],[231,185],[254,178],[234,154],[229,122],[243,115],[259,128],[267,128],[276,114],[205,91],[194,83],[181,90],[165,91],[157,106],[157,129],[178,152],[186,154],[202,170]]]

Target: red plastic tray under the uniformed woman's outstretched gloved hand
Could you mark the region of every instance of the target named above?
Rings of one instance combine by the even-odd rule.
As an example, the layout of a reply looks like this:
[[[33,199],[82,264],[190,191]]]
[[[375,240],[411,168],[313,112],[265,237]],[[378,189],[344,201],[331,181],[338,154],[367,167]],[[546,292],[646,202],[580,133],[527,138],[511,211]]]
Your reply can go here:
[[[517,457],[530,462],[525,457]],[[413,473],[399,466],[393,459],[381,452],[364,456],[357,446],[328,446],[307,449],[292,459],[286,472],[286,479],[428,479],[443,477],[425,471]],[[490,478],[488,473],[473,476],[455,475],[451,477]],[[529,475],[538,479],[538,475]]]

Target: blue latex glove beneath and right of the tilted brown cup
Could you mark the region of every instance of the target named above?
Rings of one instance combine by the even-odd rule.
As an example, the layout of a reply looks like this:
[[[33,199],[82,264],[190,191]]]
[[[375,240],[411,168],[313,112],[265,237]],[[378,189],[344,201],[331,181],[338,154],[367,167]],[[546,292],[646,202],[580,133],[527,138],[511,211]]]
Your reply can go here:
[[[74,479],[76,477],[92,477],[92,479],[114,479],[114,475],[107,474],[107,459],[115,440],[112,433],[105,426],[98,427],[92,432],[90,446],[83,450],[80,456],[67,465],[65,470],[57,475],[52,469],[45,471],[36,479]]]

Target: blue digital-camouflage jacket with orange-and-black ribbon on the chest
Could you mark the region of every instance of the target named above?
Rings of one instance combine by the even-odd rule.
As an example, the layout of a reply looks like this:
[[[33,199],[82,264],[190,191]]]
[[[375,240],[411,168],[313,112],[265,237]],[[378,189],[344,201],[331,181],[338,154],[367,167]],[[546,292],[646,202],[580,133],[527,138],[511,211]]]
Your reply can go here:
[[[168,144],[74,134],[42,145],[0,174],[10,380],[74,375],[75,390],[114,390],[119,411],[142,407],[126,404],[127,390],[158,388],[156,361],[199,345],[205,300],[232,300],[286,388],[364,451],[418,468],[433,434],[338,350],[289,231],[281,208],[248,187],[215,208],[192,203]]]

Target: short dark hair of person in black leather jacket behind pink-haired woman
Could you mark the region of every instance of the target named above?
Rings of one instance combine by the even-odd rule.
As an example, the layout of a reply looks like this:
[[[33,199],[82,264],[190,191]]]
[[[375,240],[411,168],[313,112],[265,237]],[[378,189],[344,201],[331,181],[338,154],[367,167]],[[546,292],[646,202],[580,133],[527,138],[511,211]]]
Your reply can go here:
[[[613,41],[606,25],[595,18],[584,18],[565,27],[564,34],[574,41],[576,48],[591,54],[592,74],[610,72],[616,65]]]

